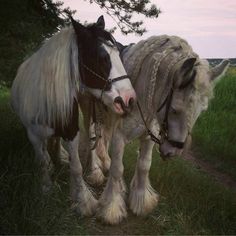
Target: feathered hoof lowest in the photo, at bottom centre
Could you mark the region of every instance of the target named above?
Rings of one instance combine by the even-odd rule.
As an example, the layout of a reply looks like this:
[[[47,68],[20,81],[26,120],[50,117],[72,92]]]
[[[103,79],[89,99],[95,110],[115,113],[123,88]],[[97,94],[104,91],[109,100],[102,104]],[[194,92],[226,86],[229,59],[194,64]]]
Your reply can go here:
[[[120,194],[110,202],[100,202],[97,210],[97,218],[110,225],[119,224],[127,217],[126,204]]]

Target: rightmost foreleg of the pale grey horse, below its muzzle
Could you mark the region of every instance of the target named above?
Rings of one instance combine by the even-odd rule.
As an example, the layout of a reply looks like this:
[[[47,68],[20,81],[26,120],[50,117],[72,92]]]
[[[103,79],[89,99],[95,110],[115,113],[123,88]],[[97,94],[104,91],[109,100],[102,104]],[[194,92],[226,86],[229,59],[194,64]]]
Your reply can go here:
[[[149,213],[158,203],[158,195],[149,181],[153,146],[154,142],[147,137],[140,139],[140,153],[129,195],[129,207],[136,215]]]

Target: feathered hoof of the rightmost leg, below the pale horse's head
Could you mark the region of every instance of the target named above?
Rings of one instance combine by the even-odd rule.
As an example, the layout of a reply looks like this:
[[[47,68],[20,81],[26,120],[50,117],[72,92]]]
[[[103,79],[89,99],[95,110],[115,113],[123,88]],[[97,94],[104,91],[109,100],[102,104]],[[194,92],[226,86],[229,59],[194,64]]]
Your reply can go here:
[[[144,190],[131,190],[129,208],[135,215],[147,215],[157,206],[157,203],[158,194],[150,185]]]

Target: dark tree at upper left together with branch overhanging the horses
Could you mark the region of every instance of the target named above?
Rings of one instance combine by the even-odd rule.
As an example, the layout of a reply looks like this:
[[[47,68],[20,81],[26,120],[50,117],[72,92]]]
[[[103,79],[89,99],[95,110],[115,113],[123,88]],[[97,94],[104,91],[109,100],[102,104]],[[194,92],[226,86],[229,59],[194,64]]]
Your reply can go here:
[[[158,17],[160,13],[150,0],[89,1],[105,9],[124,34],[142,35],[146,31],[142,21],[133,20],[133,13],[146,17]],[[70,22],[69,16],[75,11],[63,4],[56,0],[0,1],[0,83],[5,81],[10,86],[24,58]]]

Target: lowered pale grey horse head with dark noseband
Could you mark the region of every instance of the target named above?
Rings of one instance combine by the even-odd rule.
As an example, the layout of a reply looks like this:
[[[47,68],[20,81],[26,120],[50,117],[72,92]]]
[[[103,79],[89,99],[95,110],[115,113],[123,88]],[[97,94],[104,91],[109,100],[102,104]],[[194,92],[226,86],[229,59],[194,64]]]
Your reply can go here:
[[[207,61],[193,57],[176,69],[169,101],[159,114],[163,129],[159,149],[163,158],[182,154],[197,118],[208,107],[215,81],[222,77],[228,65],[224,60],[210,68]]]

